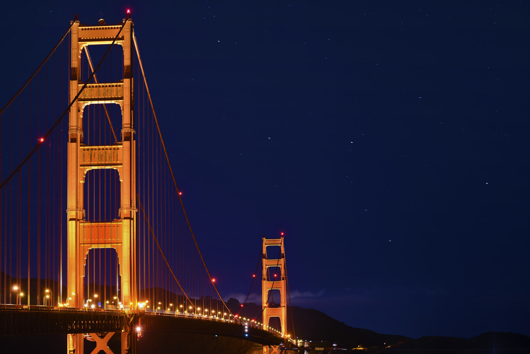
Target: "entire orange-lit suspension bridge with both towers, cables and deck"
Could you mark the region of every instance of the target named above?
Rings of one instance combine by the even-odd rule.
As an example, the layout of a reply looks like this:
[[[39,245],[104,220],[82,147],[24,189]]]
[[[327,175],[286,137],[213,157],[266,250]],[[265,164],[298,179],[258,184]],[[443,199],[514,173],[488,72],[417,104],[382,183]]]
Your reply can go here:
[[[136,353],[144,331],[237,338],[265,354],[295,343],[284,237],[262,240],[261,311],[230,308],[162,135],[130,13],[97,25],[76,14],[0,110],[0,336],[67,334],[69,354],[85,339],[111,353],[113,336]]]

